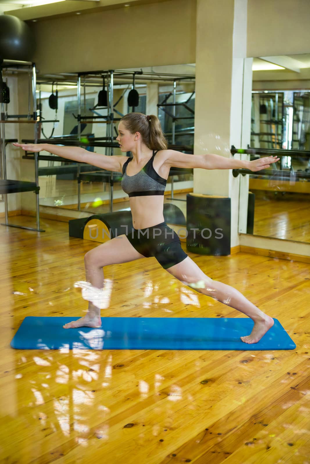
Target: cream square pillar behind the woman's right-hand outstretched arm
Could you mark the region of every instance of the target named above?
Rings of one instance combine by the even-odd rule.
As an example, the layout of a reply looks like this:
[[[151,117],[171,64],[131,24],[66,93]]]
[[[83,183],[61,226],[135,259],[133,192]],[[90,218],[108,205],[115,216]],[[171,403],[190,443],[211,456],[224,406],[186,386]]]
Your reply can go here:
[[[197,0],[195,154],[231,158],[231,145],[241,147],[246,29],[247,0]],[[231,198],[232,247],[239,243],[239,178],[231,169],[194,170],[194,193]]]

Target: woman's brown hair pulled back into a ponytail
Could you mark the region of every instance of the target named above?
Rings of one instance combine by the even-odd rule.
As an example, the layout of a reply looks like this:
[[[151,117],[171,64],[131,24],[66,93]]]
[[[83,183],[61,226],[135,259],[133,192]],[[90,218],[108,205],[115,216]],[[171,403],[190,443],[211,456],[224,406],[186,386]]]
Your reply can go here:
[[[121,121],[132,134],[139,132],[142,141],[151,150],[167,149],[167,141],[157,116],[145,116],[143,113],[128,113],[121,118]]]

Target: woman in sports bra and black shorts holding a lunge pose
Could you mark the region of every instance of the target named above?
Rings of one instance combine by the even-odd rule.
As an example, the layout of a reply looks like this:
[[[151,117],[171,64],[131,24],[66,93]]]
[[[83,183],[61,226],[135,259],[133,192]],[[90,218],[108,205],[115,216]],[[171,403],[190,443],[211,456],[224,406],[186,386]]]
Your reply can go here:
[[[248,168],[251,171],[260,171],[269,168],[270,164],[279,158],[269,156],[254,161],[239,161],[219,155],[185,155],[167,150],[158,117],[145,116],[142,113],[129,113],[122,117],[118,129],[119,135],[116,140],[119,142],[120,150],[131,151],[132,158],[99,155],[79,147],[13,143],[24,150],[46,150],[67,159],[86,162],[109,171],[123,172],[122,188],[129,194],[134,228],[127,234],[112,238],[86,253],[87,282],[96,289],[102,289],[104,266],[155,256],[166,271],[184,284],[251,317],[254,321],[251,334],[240,338],[245,343],[257,343],[272,327],[273,319],[248,301],[238,290],[206,276],[187,256],[181,248],[178,236],[165,223],[164,191],[171,167]],[[86,316],[67,323],[64,328],[100,325],[100,309],[89,302]]]

